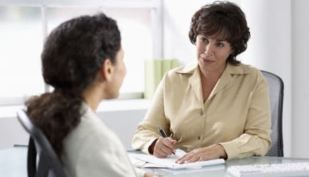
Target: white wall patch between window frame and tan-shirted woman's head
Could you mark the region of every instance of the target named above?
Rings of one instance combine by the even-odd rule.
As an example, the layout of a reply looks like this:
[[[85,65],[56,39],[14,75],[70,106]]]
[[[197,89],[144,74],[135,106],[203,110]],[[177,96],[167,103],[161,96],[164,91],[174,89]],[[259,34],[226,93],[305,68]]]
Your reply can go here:
[[[190,21],[207,1],[163,1],[163,57],[180,59],[182,64],[195,60],[195,46],[188,38]]]

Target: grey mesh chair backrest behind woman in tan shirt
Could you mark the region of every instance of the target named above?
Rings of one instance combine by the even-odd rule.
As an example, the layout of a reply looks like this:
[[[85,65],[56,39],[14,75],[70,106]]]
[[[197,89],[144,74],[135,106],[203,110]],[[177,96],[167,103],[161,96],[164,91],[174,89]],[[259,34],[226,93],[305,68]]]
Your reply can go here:
[[[283,156],[282,108],[283,81],[276,74],[261,71],[269,84],[269,101],[271,103],[271,148],[266,156]]]

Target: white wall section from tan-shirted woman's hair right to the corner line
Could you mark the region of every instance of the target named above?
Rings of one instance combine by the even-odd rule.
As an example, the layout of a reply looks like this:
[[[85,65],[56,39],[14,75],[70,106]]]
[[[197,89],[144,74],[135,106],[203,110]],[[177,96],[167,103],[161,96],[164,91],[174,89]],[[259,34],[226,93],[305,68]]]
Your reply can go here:
[[[284,155],[291,156],[291,1],[242,0],[251,39],[248,50],[240,57],[283,79],[283,145]]]

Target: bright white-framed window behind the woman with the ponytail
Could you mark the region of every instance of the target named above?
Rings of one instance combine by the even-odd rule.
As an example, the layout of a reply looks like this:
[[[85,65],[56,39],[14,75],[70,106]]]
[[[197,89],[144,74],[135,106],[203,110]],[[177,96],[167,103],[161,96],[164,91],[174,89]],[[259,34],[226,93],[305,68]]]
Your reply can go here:
[[[0,2],[0,105],[51,90],[41,76],[45,36],[70,18],[103,11],[121,30],[126,78],[121,95],[142,96],[144,60],[161,57],[161,1],[18,0]]]

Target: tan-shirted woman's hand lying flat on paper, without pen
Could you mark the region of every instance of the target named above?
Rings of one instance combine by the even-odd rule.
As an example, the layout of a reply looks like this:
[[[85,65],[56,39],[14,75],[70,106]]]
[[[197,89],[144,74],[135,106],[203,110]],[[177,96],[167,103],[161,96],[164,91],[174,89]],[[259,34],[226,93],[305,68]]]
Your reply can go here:
[[[201,147],[188,152],[176,162],[178,164],[192,163],[195,161],[207,161],[212,159],[227,159],[227,153],[220,144],[212,144],[209,147]]]

